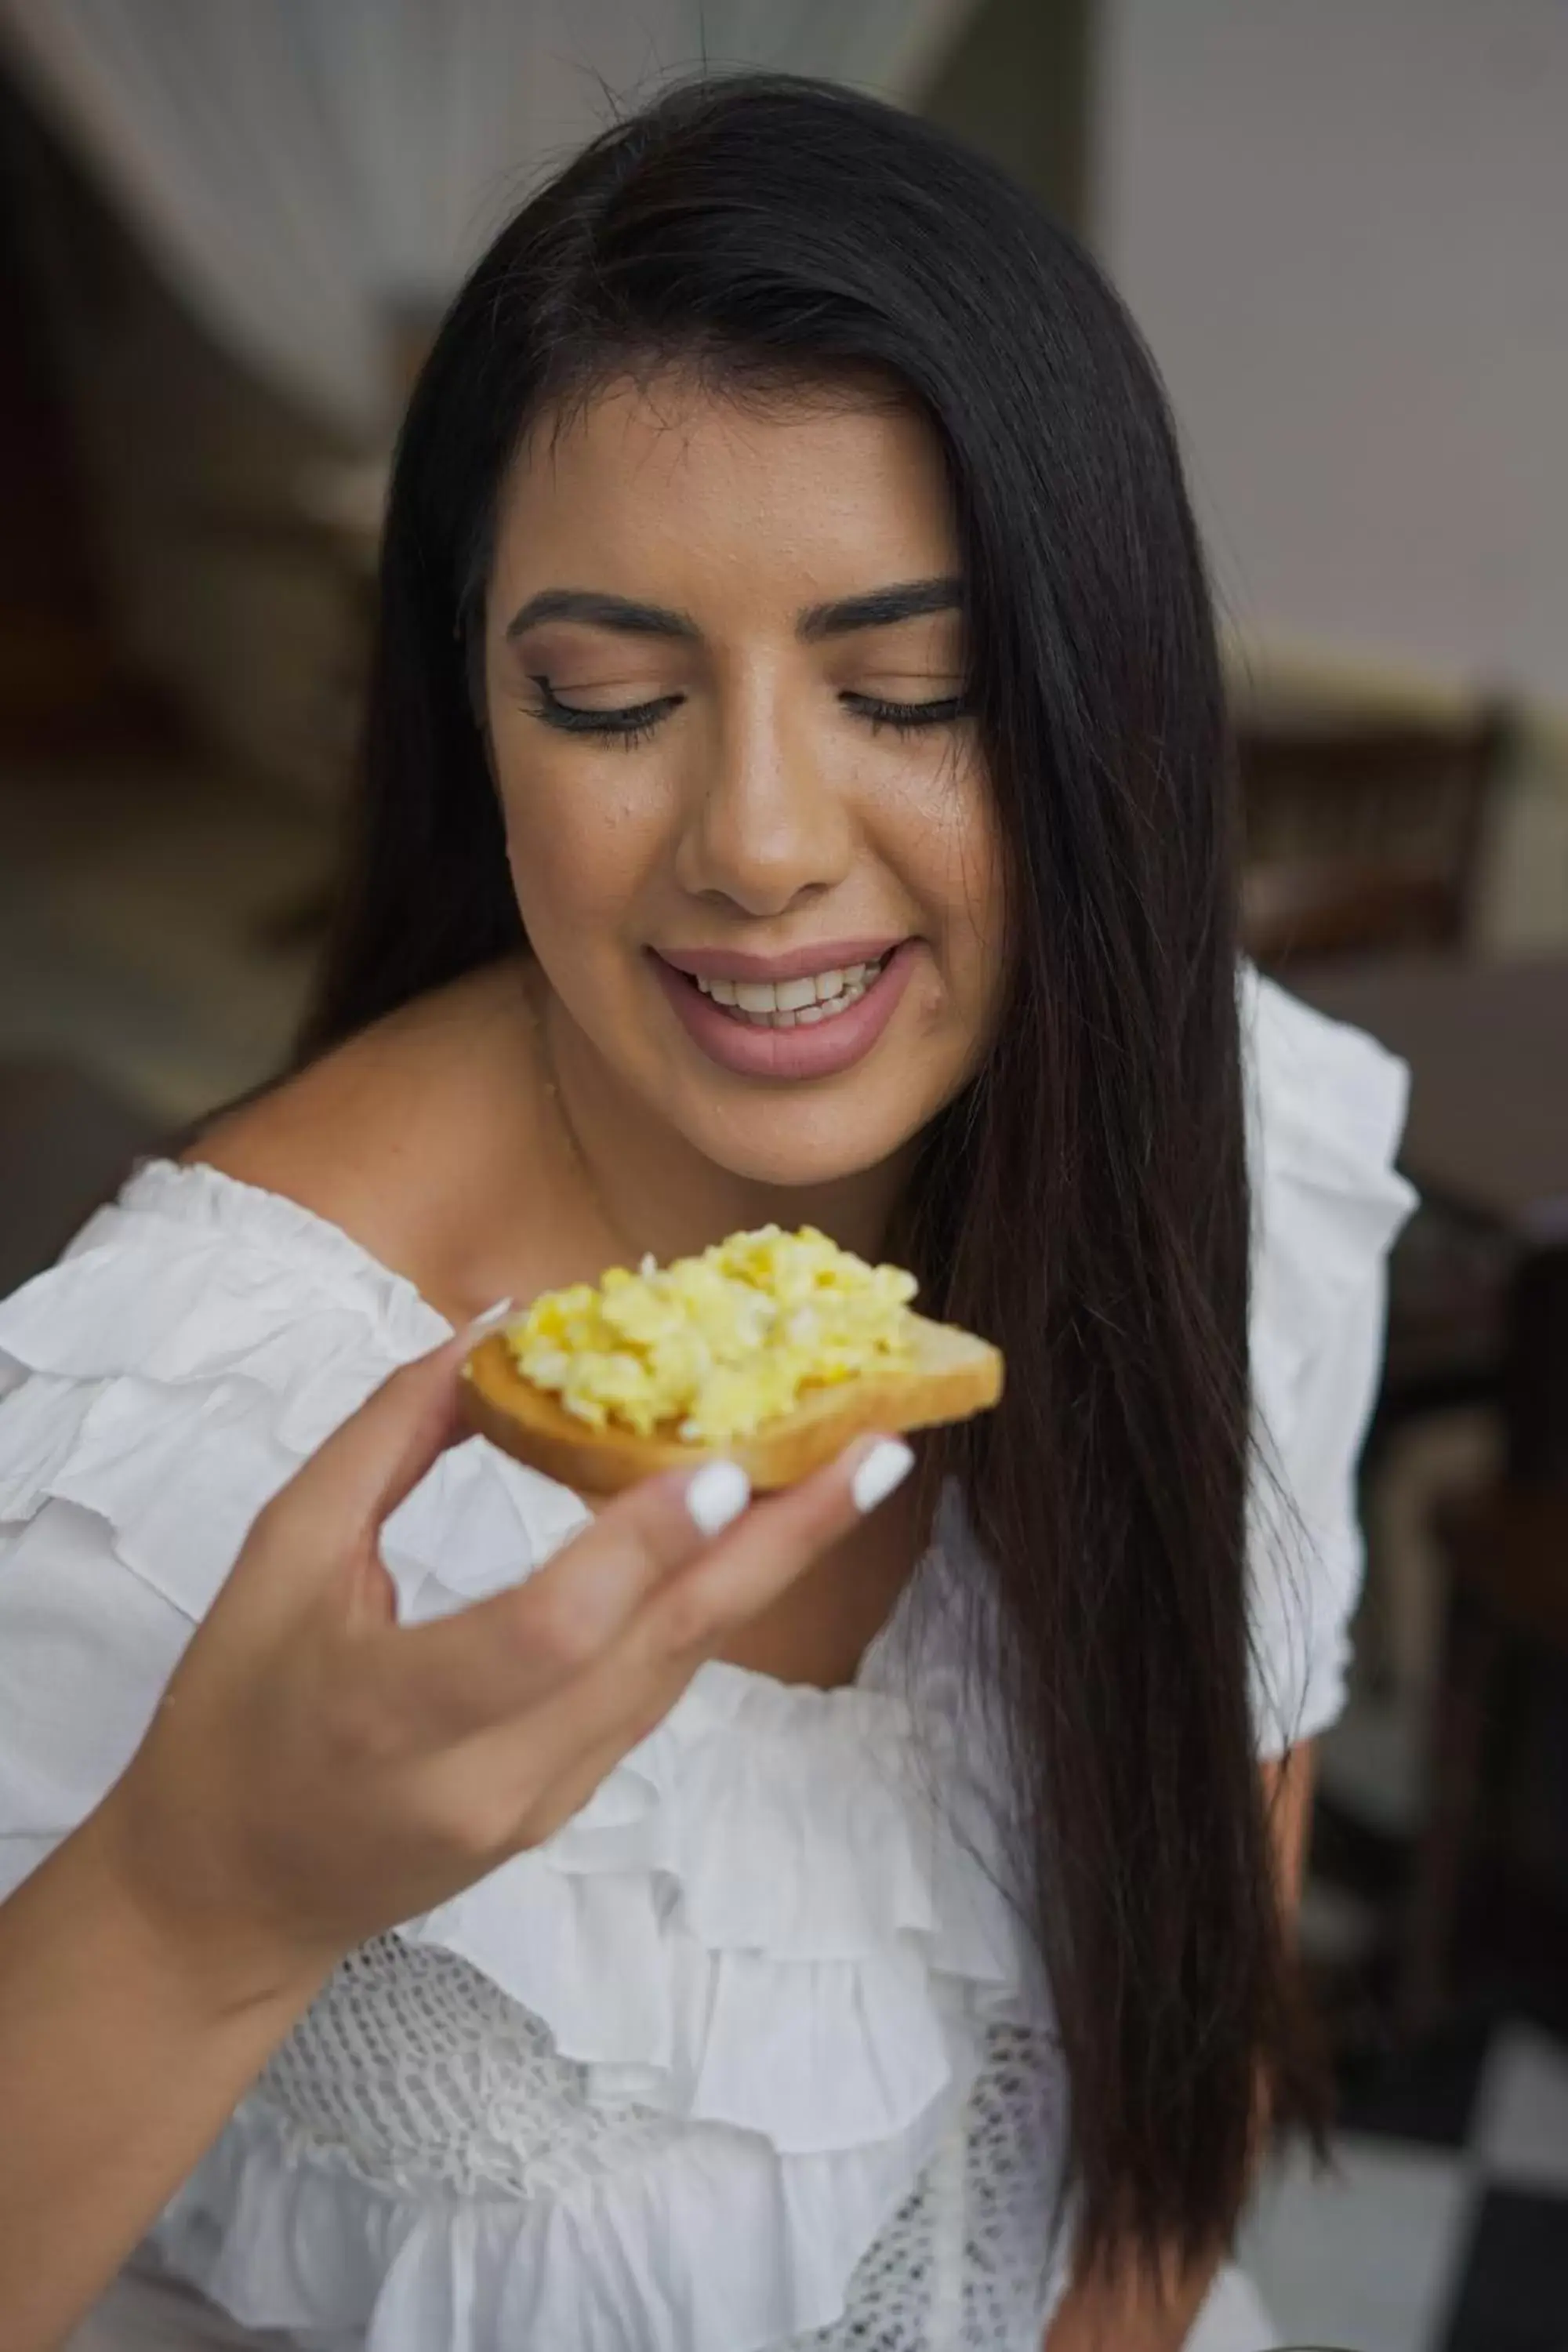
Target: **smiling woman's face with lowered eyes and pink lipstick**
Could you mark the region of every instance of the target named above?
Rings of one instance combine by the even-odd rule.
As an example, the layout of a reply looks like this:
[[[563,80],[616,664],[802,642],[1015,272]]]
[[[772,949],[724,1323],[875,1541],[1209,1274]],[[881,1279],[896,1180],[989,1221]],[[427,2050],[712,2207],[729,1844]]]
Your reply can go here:
[[[484,694],[529,941],[644,1110],[816,1185],[973,1075],[999,847],[912,412],[665,376],[545,423],[501,499]]]

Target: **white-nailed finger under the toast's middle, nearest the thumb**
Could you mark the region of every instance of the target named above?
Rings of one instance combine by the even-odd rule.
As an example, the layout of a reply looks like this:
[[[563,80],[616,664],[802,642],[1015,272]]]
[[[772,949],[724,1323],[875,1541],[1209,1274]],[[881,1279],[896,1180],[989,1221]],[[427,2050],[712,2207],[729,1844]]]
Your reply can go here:
[[[748,1501],[745,1472],[722,1458],[630,1486],[527,1583],[390,1630],[381,1658],[390,1698],[430,1740],[508,1722],[588,1672],[646,1595],[712,1545]]]

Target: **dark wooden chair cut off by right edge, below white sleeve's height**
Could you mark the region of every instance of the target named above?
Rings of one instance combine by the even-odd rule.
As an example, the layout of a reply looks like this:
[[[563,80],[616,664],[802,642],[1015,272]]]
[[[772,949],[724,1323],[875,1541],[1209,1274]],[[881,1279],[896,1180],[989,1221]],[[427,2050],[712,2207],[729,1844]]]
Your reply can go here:
[[[1509,1668],[1568,1661],[1568,1242],[1533,1251],[1514,1277],[1502,1409],[1505,1472],[1434,1512],[1448,1595],[1399,1985],[1410,2034],[1443,2011],[1467,1870],[1495,1842],[1521,1731],[1519,1708],[1505,1708],[1521,1679]]]

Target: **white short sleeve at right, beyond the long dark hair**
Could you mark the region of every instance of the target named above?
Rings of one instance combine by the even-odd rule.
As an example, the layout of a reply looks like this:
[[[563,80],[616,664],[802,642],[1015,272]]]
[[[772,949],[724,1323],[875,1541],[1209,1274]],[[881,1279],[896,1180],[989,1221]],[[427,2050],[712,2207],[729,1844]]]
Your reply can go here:
[[[1366,1566],[1356,1465],[1378,1397],[1408,1070],[1244,967],[1253,1188],[1253,1722],[1265,1757],[1345,1705]]]

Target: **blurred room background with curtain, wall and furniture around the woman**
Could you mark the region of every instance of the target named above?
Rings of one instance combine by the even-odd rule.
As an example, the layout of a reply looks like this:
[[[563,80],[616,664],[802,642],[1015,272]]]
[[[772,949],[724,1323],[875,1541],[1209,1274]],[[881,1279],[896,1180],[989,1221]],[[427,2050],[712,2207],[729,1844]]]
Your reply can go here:
[[[926,111],[1103,256],[1227,628],[1246,931],[1413,1068],[1422,1207],[1305,1945],[1281,2340],[1568,2343],[1568,5],[0,0],[0,1291],[277,1063],[400,405],[665,73]]]

